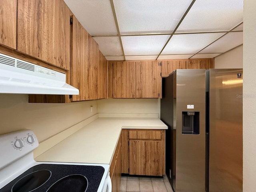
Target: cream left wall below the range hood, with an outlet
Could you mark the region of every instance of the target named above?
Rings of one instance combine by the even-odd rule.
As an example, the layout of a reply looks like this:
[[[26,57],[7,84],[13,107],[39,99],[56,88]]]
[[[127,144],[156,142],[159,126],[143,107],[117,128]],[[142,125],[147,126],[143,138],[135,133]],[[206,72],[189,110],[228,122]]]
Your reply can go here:
[[[97,101],[28,103],[26,94],[0,94],[0,134],[32,129],[42,141],[96,113]]]

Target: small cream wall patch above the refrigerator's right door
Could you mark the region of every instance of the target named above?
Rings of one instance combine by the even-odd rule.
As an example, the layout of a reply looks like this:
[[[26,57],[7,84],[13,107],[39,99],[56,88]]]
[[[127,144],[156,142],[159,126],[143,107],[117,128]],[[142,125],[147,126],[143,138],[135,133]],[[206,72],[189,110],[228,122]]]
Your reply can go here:
[[[215,57],[215,68],[243,68],[243,45]]]

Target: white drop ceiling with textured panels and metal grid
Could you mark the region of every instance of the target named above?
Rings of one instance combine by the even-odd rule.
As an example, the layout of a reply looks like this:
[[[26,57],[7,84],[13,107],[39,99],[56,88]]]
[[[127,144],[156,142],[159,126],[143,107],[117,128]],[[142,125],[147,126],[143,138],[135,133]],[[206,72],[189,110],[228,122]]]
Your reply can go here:
[[[214,58],[243,43],[243,0],[64,0],[107,60]]]

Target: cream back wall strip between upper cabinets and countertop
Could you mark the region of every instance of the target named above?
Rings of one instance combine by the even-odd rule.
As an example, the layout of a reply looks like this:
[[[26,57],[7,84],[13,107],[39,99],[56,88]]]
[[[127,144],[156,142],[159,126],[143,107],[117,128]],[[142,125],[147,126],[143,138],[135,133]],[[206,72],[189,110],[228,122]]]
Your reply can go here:
[[[102,99],[98,100],[98,113],[160,114],[160,99]]]

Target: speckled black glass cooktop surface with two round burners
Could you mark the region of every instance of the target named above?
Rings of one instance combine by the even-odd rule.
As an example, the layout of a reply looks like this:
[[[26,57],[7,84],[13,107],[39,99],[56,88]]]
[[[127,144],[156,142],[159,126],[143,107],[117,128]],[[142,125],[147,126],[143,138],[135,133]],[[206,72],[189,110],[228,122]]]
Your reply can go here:
[[[97,192],[103,174],[102,166],[40,164],[0,192]]]

